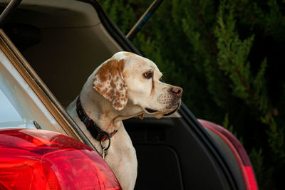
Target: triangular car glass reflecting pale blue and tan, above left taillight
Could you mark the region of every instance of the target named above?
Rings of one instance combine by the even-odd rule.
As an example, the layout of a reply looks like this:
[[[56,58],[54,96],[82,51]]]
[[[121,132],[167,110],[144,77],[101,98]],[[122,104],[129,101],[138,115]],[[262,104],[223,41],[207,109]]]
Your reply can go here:
[[[0,51],[0,89],[1,128],[37,125],[66,134],[3,51]]]

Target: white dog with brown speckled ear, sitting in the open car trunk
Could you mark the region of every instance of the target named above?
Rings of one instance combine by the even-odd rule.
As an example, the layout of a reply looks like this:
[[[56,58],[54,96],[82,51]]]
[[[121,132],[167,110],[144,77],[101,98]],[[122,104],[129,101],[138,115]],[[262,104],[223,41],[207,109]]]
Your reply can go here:
[[[122,189],[134,189],[138,161],[122,120],[144,113],[171,115],[181,104],[182,88],[163,83],[157,65],[129,52],[118,52],[89,76],[67,111],[81,127]]]

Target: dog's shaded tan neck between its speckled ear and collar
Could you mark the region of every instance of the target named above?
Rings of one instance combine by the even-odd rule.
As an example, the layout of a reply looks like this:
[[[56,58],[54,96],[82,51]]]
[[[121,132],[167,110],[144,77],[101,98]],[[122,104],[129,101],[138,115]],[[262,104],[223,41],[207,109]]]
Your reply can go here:
[[[142,109],[132,105],[130,102],[125,109],[121,111],[115,110],[112,103],[93,88],[91,76],[81,91],[81,104],[88,117],[90,117],[101,130],[109,133],[119,130],[120,121],[142,114]],[[130,107],[132,107],[132,109],[128,109]],[[95,111],[98,109],[101,110],[101,112]],[[128,112],[128,110],[132,110],[132,112]],[[135,114],[134,110],[137,110]]]

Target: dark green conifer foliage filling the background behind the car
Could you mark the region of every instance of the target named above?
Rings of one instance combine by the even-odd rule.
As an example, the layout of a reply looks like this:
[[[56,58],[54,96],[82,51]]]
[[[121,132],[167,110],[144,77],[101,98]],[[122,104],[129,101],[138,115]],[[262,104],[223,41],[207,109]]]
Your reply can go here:
[[[240,137],[260,189],[284,189],[284,2],[164,1],[133,41],[197,117]],[[102,4],[128,33],[150,2]]]

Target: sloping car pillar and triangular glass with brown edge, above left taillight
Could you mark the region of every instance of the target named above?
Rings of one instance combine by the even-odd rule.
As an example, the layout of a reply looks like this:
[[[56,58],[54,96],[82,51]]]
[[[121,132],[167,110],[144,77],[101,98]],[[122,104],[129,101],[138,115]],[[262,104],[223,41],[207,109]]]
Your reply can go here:
[[[10,125],[18,124],[16,127],[60,132],[93,147],[2,30],[0,30],[0,89],[4,94],[1,96],[1,102],[9,102],[9,108],[14,107],[10,109],[10,113],[14,115],[15,120],[9,120]],[[0,107],[4,107],[1,108],[4,109],[2,112],[8,109],[7,106],[0,104]],[[3,120],[3,117],[0,119]],[[3,122],[7,125],[6,120]]]

